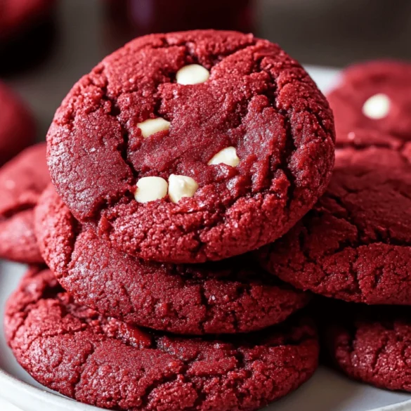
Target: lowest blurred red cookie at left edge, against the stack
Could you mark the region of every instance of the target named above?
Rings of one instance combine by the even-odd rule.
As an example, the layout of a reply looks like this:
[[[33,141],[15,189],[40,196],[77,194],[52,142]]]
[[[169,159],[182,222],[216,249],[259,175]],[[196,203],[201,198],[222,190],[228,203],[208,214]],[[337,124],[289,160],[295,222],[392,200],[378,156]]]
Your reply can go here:
[[[46,144],[26,148],[0,169],[0,258],[43,261],[34,234],[34,206],[50,178]]]

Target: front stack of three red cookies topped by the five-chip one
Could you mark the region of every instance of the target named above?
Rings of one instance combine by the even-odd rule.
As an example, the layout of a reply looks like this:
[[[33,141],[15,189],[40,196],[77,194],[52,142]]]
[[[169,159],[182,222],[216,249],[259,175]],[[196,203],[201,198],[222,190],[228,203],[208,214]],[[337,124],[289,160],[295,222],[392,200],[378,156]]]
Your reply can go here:
[[[224,411],[311,377],[318,334],[296,313],[311,296],[247,254],[313,207],[334,164],[327,100],[277,45],[131,41],[67,95],[47,162],[27,210],[48,268],[30,268],[5,327],[41,384],[108,409]]]

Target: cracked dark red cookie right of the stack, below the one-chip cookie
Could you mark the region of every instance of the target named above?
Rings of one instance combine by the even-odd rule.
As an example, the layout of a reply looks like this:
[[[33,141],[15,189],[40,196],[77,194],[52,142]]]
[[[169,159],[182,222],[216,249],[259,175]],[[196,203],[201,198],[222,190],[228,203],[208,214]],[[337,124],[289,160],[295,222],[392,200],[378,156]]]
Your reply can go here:
[[[405,149],[336,152],[330,186],[312,211],[257,252],[300,289],[367,304],[411,304],[411,156]]]

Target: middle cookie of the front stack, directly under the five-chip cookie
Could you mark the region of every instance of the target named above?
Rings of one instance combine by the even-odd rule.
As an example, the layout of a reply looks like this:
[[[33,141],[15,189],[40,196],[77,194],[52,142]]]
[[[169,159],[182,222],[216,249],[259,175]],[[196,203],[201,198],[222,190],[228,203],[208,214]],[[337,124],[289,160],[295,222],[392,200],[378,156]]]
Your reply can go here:
[[[195,266],[148,263],[81,227],[51,186],[35,211],[41,253],[76,301],[124,322],[177,334],[261,330],[310,296],[273,281],[247,256]]]

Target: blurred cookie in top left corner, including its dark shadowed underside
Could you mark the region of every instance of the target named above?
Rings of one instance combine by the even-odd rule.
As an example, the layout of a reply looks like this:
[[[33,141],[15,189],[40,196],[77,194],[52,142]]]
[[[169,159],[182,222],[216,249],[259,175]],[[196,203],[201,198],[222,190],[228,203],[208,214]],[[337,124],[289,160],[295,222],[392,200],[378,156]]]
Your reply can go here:
[[[55,0],[0,1],[0,75],[39,63],[54,40]]]

